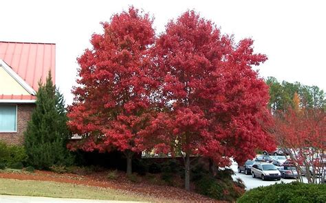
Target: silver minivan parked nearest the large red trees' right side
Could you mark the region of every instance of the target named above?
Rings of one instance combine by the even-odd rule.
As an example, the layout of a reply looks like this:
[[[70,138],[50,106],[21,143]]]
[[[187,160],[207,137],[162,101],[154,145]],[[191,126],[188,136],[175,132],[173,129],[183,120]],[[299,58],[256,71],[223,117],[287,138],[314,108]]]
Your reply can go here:
[[[281,172],[271,163],[254,163],[251,168],[252,178],[261,180],[276,179],[281,180]]]

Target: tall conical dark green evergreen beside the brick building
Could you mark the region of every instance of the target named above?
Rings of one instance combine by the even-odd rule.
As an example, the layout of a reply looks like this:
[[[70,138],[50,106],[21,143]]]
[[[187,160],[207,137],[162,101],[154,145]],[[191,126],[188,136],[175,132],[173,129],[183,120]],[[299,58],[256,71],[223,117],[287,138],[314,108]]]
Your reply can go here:
[[[52,165],[72,163],[72,156],[65,146],[68,136],[65,101],[49,72],[45,84],[39,82],[36,108],[25,132],[28,164],[38,169],[48,169]]]

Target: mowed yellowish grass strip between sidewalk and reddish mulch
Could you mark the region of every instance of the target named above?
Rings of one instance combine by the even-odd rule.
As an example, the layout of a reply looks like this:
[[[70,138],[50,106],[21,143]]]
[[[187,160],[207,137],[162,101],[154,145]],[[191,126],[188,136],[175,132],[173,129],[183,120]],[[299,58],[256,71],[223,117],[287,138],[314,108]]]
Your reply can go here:
[[[27,195],[51,198],[80,198],[92,200],[151,201],[124,191],[79,184],[38,180],[0,178],[1,195]]]

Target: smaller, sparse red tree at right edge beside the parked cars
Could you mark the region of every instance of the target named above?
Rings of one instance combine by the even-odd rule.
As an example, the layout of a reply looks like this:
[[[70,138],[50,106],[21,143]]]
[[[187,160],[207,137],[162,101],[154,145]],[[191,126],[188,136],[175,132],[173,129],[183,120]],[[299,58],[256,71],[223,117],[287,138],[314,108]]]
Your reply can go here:
[[[319,175],[324,174],[326,167],[325,110],[299,108],[297,105],[294,109],[278,112],[274,135],[279,146],[290,155],[299,180],[302,181],[301,174],[309,183],[317,183],[318,178],[324,177]]]

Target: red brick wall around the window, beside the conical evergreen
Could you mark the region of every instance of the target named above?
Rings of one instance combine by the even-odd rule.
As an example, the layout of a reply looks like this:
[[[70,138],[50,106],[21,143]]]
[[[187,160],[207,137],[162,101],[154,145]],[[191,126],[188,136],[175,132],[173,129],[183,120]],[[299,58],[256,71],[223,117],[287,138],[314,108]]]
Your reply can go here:
[[[35,104],[17,104],[17,132],[0,132],[0,141],[21,145],[34,108]]]

